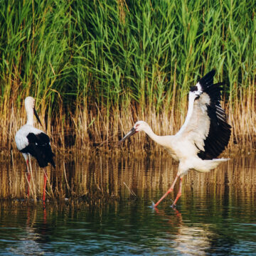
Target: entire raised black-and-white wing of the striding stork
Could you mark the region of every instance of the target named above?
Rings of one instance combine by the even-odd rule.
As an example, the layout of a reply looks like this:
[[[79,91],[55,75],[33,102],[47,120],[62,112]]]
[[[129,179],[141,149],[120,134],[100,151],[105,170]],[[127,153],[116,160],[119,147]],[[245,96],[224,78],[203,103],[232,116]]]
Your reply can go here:
[[[201,159],[214,159],[228,145],[231,127],[220,106],[222,82],[213,84],[215,70],[191,87],[188,97],[188,114],[177,133],[195,146]]]

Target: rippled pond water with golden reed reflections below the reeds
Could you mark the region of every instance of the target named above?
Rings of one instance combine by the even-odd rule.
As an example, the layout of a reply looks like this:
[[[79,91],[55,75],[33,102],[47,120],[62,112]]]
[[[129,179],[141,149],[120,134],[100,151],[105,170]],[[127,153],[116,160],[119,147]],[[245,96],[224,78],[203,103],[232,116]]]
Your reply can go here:
[[[191,171],[177,208],[175,188],[158,210],[151,201],[176,176],[169,158],[59,156],[45,206],[26,200],[22,160],[0,163],[1,255],[256,255],[255,156]],[[43,171],[34,175],[40,198]]]

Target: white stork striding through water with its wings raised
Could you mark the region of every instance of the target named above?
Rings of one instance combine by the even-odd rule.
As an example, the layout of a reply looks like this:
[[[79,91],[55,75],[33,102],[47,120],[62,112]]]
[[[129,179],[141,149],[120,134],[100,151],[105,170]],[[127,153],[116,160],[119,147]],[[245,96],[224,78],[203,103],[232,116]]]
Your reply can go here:
[[[213,84],[215,70],[211,70],[191,87],[188,95],[188,113],[181,129],[173,136],[154,134],[149,124],[138,121],[119,143],[124,142],[133,134],[144,131],[154,142],[164,146],[171,156],[179,161],[178,174],[171,188],[162,196],[154,207],[174,190],[177,179],[180,179],[178,194],[173,203],[176,206],[181,197],[182,178],[189,169],[208,172],[218,164],[229,159],[216,159],[228,145],[231,127],[227,123],[225,111],[220,106],[223,82]]]

